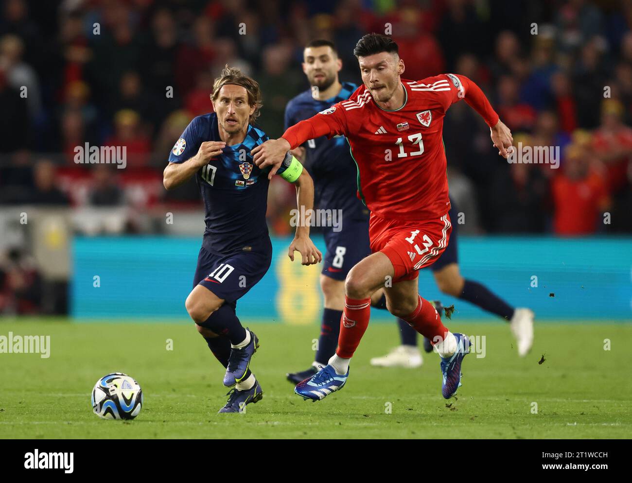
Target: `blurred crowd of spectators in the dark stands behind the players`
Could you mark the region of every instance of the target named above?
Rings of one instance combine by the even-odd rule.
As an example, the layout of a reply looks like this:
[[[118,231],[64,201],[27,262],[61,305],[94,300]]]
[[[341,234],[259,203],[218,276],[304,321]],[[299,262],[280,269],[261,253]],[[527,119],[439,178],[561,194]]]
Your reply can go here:
[[[465,103],[446,116],[449,182],[469,232],[632,232],[630,0],[2,0],[0,208],[21,203],[199,206],[162,169],[188,122],[212,106],[225,64],[261,85],[260,128],[283,133],[308,88],[312,39],[334,41],[341,80],[367,32],[392,35],[405,78],[454,72],[487,93],[522,146],[551,164],[509,164]],[[126,169],[76,164],[85,143],[126,146]],[[288,189],[289,188],[289,189]],[[291,187],[272,184],[272,231],[290,231]],[[1,283],[1,280],[0,280]]]

